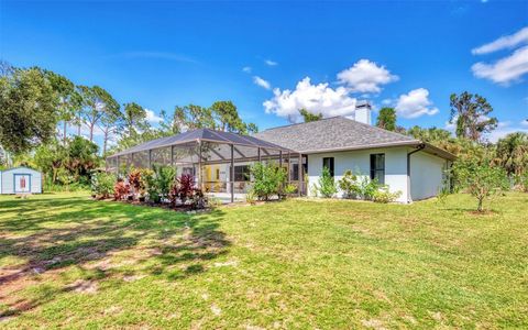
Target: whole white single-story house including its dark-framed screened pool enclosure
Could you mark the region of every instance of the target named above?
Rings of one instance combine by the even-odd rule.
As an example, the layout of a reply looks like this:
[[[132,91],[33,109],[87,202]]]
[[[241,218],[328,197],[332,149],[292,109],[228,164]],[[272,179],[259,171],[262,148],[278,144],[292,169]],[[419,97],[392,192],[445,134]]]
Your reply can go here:
[[[323,166],[336,180],[349,169],[376,178],[391,191],[400,191],[399,202],[439,193],[454,155],[371,125],[369,103],[358,107],[354,114],[354,119],[333,117],[273,128],[253,136],[211,129],[188,131],[111,155],[107,169],[123,173],[132,166],[169,165],[178,174],[193,174],[206,193],[223,194],[231,201],[243,198],[251,187],[251,164],[270,161],[286,169],[299,195],[312,195]]]

